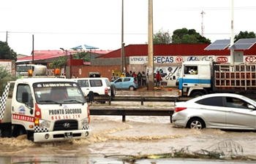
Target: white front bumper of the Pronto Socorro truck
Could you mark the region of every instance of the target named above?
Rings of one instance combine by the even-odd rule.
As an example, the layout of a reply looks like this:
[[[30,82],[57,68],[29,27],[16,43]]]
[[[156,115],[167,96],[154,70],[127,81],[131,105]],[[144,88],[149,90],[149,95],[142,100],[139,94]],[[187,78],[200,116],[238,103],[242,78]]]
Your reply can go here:
[[[88,138],[91,130],[67,130],[34,133],[34,142],[67,141],[69,139]]]

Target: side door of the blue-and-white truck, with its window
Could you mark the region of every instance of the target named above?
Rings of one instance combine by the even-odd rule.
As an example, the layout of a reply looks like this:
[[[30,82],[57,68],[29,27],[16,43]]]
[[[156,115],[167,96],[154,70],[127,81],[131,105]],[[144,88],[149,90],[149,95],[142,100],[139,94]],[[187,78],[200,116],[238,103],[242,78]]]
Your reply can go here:
[[[198,87],[198,66],[184,66],[183,87]]]

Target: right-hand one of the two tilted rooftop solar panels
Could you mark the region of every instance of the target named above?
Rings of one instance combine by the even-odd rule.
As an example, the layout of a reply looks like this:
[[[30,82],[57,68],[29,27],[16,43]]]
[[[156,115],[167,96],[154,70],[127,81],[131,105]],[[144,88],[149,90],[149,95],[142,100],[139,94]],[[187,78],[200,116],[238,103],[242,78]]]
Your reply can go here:
[[[256,38],[239,39],[228,50],[249,50],[256,43]]]

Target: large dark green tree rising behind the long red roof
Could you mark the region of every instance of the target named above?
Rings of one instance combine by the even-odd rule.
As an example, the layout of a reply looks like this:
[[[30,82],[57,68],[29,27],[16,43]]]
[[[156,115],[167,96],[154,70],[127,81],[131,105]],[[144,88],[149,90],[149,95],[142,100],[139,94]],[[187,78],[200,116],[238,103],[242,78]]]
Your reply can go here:
[[[211,43],[210,39],[206,39],[206,37],[201,36],[195,31],[195,29],[188,30],[187,28],[181,28],[173,31],[172,41],[173,44]]]

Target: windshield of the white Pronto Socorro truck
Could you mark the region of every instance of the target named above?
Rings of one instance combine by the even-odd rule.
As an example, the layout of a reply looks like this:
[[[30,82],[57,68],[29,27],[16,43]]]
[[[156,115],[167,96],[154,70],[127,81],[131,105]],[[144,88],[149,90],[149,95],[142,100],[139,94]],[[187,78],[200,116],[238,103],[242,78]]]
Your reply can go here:
[[[37,104],[84,104],[86,98],[75,82],[34,83]]]

